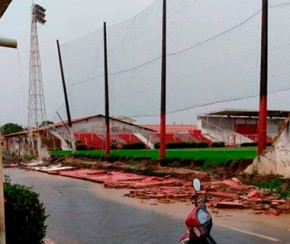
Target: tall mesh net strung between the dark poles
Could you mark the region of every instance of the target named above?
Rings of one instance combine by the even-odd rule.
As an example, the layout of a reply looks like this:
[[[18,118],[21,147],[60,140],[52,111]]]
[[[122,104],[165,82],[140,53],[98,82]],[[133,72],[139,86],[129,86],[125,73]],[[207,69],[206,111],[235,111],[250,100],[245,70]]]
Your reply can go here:
[[[107,28],[111,116],[159,123],[162,2]],[[167,1],[168,123],[217,105],[258,109],[261,5],[261,0]],[[289,29],[290,1],[270,0],[268,92],[285,97]],[[73,118],[104,114],[103,45],[103,30],[61,45]],[[275,104],[274,96],[269,106],[287,104]],[[64,106],[58,112],[66,118]]]

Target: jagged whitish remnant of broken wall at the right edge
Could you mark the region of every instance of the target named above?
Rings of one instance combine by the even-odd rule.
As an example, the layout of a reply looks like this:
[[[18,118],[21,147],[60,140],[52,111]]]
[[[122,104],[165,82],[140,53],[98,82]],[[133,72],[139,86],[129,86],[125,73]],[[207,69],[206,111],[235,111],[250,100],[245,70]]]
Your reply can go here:
[[[256,157],[245,170],[247,174],[281,175],[290,179],[290,116],[280,126],[273,146]]]

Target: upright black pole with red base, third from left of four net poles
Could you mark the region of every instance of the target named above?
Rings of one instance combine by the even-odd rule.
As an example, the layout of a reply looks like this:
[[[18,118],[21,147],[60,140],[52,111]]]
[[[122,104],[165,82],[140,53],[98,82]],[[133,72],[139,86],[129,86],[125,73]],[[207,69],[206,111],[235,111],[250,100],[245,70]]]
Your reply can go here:
[[[162,61],[161,61],[161,114],[160,114],[160,158],[166,154],[166,0],[163,0],[162,17]]]

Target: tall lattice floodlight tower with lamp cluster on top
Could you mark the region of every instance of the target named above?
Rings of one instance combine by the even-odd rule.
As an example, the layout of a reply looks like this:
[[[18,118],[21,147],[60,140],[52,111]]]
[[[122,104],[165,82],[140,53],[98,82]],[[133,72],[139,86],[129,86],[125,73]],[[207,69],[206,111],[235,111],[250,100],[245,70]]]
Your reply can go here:
[[[29,102],[28,129],[32,140],[32,129],[46,121],[41,62],[39,54],[37,23],[45,24],[45,9],[38,4],[32,4],[31,39],[30,39],[30,69],[29,69]]]

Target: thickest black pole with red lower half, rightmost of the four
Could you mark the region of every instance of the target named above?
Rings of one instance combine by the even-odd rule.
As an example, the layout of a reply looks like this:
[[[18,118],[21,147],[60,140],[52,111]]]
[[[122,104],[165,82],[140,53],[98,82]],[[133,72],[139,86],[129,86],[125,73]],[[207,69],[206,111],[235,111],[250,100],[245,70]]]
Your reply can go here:
[[[268,81],[268,0],[262,3],[260,110],[258,132],[258,155],[266,149],[267,138],[267,81]]]

